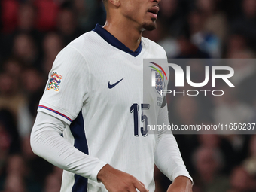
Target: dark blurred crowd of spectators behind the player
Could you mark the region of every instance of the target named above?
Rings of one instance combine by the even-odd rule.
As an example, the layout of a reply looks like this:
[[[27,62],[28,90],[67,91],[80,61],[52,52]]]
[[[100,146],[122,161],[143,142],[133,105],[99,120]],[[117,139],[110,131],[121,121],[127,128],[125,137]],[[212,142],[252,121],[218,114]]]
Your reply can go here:
[[[57,192],[62,170],[32,153],[29,135],[47,75],[70,41],[105,23],[101,0],[0,2],[0,191]],[[158,28],[144,36],[169,58],[254,59],[256,0],[162,0]],[[245,60],[246,61],[246,60]],[[256,66],[233,62],[224,96],[169,96],[175,124],[255,123]],[[204,79],[195,64],[191,77]],[[194,192],[256,191],[256,136],[177,135]],[[156,192],[170,181],[156,168]]]

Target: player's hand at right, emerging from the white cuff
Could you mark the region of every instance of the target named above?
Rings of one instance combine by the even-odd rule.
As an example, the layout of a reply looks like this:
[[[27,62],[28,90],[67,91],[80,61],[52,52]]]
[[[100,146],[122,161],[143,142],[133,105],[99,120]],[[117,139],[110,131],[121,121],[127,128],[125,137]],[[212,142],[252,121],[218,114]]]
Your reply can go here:
[[[192,192],[192,182],[187,177],[179,176],[175,178],[167,192]]]

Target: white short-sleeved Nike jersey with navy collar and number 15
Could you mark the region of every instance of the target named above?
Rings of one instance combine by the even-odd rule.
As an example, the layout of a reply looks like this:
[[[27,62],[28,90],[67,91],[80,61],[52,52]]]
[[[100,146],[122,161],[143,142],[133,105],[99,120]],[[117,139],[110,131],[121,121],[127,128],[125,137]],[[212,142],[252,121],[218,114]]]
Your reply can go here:
[[[63,136],[75,148],[135,176],[153,191],[157,136],[142,134],[140,127],[143,115],[149,124],[157,123],[162,96],[153,87],[143,103],[146,58],[165,59],[166,53],[147,38],[133,52],[97,25],[56,57],[38,111],[65,121]],[[63,172],[61,191],[87,190],[106,191],[102,183]]]

